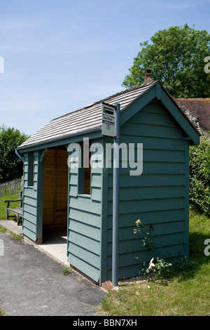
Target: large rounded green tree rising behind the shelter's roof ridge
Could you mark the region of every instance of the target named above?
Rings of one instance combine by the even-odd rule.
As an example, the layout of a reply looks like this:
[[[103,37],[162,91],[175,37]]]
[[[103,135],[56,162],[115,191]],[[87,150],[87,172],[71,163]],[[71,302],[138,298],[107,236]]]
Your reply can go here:
[[[210,55],[210,34],[206,30],[187,24],[169,27],[156,32],[150,44],[144,41],[140,46],[123,86],[141,85],[149,69],[175,98],[209,98],[210,74],[204,71],[204,60]]]

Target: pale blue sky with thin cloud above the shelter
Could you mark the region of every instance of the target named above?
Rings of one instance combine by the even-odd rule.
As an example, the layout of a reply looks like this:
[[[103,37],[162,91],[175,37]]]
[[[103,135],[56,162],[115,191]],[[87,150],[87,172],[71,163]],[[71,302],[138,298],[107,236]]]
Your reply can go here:
[[[0,126],[31,135],[122,91],[140,42],[185,23],[210,32],[209,14],[210,0],[0,0]]]

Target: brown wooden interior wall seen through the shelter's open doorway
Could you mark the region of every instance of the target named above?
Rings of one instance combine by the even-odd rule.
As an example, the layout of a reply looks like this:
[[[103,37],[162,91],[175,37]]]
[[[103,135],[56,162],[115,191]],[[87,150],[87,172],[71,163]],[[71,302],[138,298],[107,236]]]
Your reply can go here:
[[[68,203],[68,152],[50,148],[44,158],[43,226],[66,227]]]

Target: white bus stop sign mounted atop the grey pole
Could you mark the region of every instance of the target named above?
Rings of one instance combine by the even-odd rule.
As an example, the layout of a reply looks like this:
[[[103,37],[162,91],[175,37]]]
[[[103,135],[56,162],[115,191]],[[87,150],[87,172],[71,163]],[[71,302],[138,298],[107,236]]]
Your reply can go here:
[[[115,135],[115,106],[102,103],[102,136]]]

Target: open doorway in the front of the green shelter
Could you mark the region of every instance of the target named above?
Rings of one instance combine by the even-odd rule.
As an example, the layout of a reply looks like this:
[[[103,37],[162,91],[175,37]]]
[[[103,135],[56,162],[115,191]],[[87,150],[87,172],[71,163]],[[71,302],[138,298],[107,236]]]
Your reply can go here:
[[[49,148],[44,157],[43,244],[67,242],[68,152],[64,145]]]

